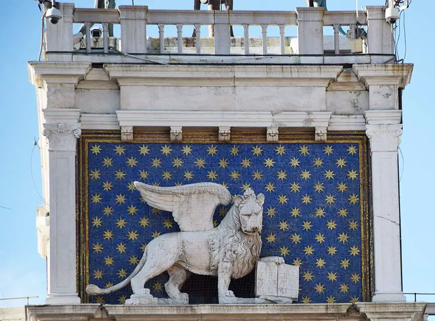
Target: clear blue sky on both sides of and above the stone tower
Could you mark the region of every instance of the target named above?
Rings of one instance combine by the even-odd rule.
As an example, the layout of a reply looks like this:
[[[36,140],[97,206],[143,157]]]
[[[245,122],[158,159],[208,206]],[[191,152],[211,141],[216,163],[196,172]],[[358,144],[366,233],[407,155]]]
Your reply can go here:
[[[72,1],[71,1],[72,2]],[[384,0],[360,0],[361,5],[383,5]],[[404,134],[401,149],[404,162],[401,181],[403,284],[405,292],[435,293],[435,250],[433,231],[435,215],[432,184],[435,139],[433,98],[435,65],[431,37],[432,5],[413,1],[406,12],[407,63],[414,63],[411,84],[404,91]],[[90,8],[94,0],[77,0],[76,7]],[[131,4],[117,0],[118,5]],[[262,2],[235,0],[236,10],[294,10],[305,0]],[[135,5],[150,9],[191,9],[193,0],[135,0]],[[328,0],[330,10],[354,10],[353,0]],[[39,152],[33,151],[38,137],[36,95],[28,82],[27,61],[37,60],[41,16],[35,1],[2,1],[3,49],[0,52],[1,133],[0,148],[0,298],[39,296],[31,303],[43,303],[46,295],[46,262],[37,253],[35,228],[36,206],[42,205]],[[76,26],[78,28],[78,26]],[[237,35],[237,34],[236,34]],[[427,38],[429,36],[429,38]],[[402,43],[403,44],[403,43]],[[403,56],[403,45],[400,51]],[[33,186],[30,168],[36,189]],[[37,191],[36,191],[37,190]],[[423,299],[423,298],[421,298]],[[435,302],[435,296],[427,298]],[[0,301],[2,306],[20,306],[24,300]]]

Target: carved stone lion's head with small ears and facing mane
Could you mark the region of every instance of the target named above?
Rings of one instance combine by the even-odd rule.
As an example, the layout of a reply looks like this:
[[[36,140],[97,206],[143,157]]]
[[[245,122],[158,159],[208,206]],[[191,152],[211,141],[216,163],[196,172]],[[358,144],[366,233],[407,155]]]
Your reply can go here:
[[[255,193],[248,189],[242,195],[237,195],[234,204],[238,207],[240,229],[243,233],[260,233],[263,226],[263,204],[265,195]]]

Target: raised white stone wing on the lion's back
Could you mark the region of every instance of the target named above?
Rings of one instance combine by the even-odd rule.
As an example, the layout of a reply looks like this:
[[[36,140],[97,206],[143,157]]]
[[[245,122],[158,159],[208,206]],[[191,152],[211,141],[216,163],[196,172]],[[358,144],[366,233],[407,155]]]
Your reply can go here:
[[[214,210],[232,200],[231,193],[215,183],[159,187],[135,182],[135,186],[150,206],[172,212],[184,232],[213,229]]]

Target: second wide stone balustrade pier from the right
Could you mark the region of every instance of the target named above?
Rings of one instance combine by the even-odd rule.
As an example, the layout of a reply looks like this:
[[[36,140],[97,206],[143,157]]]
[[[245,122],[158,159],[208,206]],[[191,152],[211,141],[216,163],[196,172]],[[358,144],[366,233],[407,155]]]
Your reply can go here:
[[[324,8],[296,8],[299,55],[323,55]]]

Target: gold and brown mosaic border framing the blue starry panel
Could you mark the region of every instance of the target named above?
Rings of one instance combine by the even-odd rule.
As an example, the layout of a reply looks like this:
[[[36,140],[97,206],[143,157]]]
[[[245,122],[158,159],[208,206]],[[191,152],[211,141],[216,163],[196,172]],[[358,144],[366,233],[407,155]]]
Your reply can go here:
[[[89,213],[88,213],[88,145],[98,142],[121,142],[120,131],[86,131],[84,130],[77,146],[76,158],[76,255],[77,255],[77,292],[82,303],[89,303],[89,296],[85,291],[89,284]],[[168,143],[169,131],[164,132],[135,132],[135,143]],[[369,144],[365,132],[328,132],[328,143],[355,143],[360,148],[360,190],[361,190],[361,286],[362,300],[371,301],[374,291],[373,269],[373,228],[371,208],[371,172]],[[217,132],[183,132],[182,143],[238,143],[255,144],[267,143],[266,133],[235,132],[231,133],[230,142],[220,142]],[[279,141],[274,143],[316,143],[313,133],[280,132]]]

